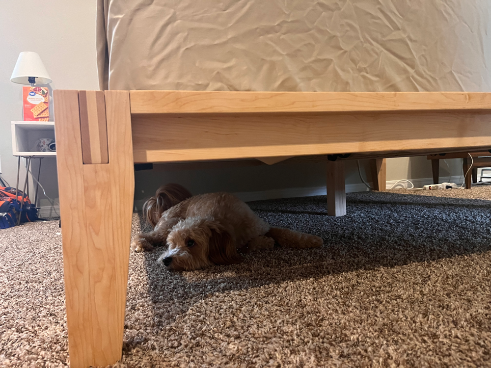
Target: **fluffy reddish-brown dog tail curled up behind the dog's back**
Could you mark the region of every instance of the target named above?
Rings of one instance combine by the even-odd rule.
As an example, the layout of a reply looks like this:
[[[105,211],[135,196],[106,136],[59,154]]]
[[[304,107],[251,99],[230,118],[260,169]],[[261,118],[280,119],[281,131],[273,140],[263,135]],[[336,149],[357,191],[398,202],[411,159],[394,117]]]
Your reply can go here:
[[[155,197],[149,198],[143,204],[143,215],[155,227],[164,211],[191,197],[191,192],[182,185],[162,185],[155,192]]]

